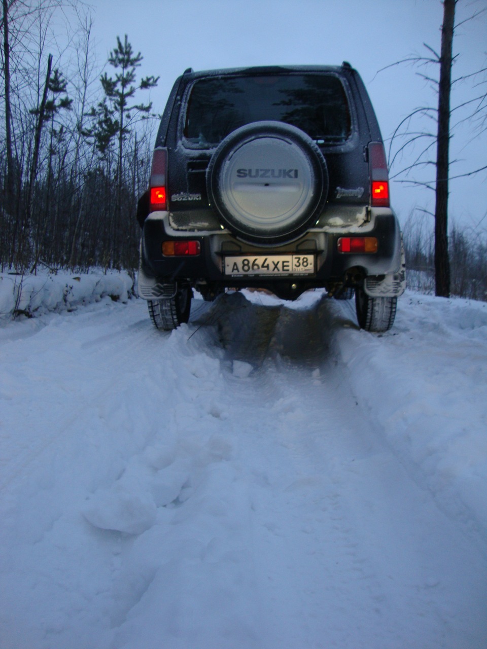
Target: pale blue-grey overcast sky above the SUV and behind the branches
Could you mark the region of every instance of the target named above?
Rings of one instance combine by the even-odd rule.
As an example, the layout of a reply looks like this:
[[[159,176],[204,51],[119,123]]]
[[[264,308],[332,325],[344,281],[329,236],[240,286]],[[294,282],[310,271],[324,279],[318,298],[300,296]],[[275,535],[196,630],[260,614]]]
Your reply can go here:
[[[156,112],[162,112],[173,82],[187,67],[341,64],[343,60],[364,79],[384,139],[411,110],[436,101],[412,66],[377,73],[412,53],[428,55],[423,43],[440,52],[440,0],[92,0],[91,5],[97,58],[106,60],[116,37],[127,34],[134,51],[144,56],[140,75],[160,76],[158,87],[151,91]],[[456,22],[482,8],[487,8],[487,0],[460,0]],[[487,13],[458,27],[454,49],[459,55],[455,77],[486,67]],[[436,66],[422,71],[437,74]],[[485,93],[487,84],[477,93],[482,88]],[[456,84],[453,105],[470,96],[474,95],[468,83]],[[451,158],[460,159],[451,175],[487,165],[486,134],[479,136],[473,125],[457,127]],[[399,169],[394,166],[392,172]],[[432,167],[425,173],[424,180],[434,178]],[[404,222],[415,205],[433,210],[434,193],[394,182],[392,202]],[[451,182],[449,212],[451,221],[477,226],[487,213],[486,171]],[[432,222],[431,217],[425,218]],[[487,230],[487,216],[480,227]]]

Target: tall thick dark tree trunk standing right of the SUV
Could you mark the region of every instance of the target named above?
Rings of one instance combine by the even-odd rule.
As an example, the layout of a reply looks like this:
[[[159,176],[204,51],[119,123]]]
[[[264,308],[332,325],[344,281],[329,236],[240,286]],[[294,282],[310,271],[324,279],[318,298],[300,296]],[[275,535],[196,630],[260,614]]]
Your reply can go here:
[[[438,138],[436,142],[436,206],[434,212],[434,270],[436,295],[450,295],[448,254],[448,177],[450,140],[450,94],[453,29],[456,0],[443,0],[442,55],[438,91]]]

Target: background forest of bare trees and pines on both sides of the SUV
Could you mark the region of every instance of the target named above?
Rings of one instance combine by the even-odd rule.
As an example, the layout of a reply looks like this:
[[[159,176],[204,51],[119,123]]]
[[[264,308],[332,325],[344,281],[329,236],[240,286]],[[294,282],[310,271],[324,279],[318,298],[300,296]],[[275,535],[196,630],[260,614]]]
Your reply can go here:
[[[101,66],[77,0],[2,0],[0,266],[88,271],[138,265],[138,197],[158,125],[157,78],[125,36]],[[162,110],[161,106],[157,106]],[[433,228],[404,227],[408,282],[434,292]],[[431,225],[431,224],[430,224]],[[487,300],[486,231],[451,225],[451,293]]]

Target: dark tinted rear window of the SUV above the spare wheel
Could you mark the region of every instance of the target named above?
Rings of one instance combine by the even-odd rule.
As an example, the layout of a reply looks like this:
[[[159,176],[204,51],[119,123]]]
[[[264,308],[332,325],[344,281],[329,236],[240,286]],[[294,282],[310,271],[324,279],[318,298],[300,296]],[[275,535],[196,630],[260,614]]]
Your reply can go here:
[[[340,143],[351,134],[341,80],[308,73],[196,81],[188,97],[184,137],[192,147],[211,147],[245,124],[268,119],[304,130],[318,143]]]

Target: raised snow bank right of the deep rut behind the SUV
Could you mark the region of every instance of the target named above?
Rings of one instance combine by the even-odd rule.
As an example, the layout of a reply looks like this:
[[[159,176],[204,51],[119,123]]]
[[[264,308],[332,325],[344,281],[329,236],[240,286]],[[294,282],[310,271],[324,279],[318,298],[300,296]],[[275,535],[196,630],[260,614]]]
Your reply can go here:
[[[487,531],[487,303],[406,292],[393,329],[336,328],[360,405],[443,510]]]

